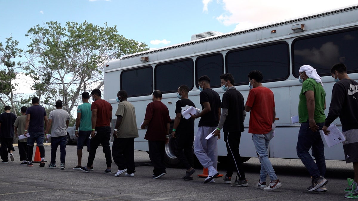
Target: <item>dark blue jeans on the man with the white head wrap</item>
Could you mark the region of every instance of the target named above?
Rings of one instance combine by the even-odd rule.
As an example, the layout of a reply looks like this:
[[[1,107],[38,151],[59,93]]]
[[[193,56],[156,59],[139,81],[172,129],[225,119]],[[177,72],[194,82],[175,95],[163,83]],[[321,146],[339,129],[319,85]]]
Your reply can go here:
[[[319,129],[313,132],[309,128],[309,122],[301,123],[300,131],[298,132],[297,140],[297,156],[301,159],[302,163],[313,178],[318,178],[326,173],[326,160],[324,158],[324,144],[322,142],[319,130],[322,129],[324,123],[317,123]],[[308,152],[312,147],[312,156],[315,158],[314,162],[310,153]]]

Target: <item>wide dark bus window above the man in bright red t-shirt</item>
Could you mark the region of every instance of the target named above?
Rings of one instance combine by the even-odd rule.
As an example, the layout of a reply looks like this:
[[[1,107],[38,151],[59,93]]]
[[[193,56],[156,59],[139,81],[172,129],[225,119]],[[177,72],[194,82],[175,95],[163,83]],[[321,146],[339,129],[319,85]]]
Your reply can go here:
[[[247,74],[260,70],[262,82],[285,80],[289,76],[289,47],[285,42],[232,50],[226,54],[226,72],[235,78],[235,85],[248,84]]]

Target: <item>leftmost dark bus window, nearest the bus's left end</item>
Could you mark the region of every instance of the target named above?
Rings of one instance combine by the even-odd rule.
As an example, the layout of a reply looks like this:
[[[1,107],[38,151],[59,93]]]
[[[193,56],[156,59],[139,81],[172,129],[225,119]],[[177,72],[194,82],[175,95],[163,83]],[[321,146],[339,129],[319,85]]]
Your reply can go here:
[[[153,68],[146,66],[122,71],[121,90],[126,90],[128,97],[152,94]]]

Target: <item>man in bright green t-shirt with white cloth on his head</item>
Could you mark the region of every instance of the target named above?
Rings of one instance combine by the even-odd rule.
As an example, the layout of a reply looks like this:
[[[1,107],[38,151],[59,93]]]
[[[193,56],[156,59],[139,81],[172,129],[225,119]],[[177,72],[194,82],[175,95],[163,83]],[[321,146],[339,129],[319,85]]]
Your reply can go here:
[[[324,145],[319,130],[324,126],[326,118],[326,93],[323,89],[321,77],[316,69],[310,65],[303,65],[299,70],[299,82],[302,83],[298,103],[298,117],[301,127],[297,140],[297,156],[307,168],[312,177],[308,191],[327,191],[324,185],[328,180],[324,178],[326,161],[324,157]],[[309,150],[312,147],[311,157]]]

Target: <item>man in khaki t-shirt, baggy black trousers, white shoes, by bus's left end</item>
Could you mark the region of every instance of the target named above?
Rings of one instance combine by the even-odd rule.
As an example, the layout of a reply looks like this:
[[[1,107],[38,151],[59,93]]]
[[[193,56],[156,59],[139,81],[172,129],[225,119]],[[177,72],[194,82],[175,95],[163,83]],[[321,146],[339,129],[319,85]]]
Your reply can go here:
[[[138,137],[137,119],[134,105],[127,101],[127,92],[120,90],[117,93],[118,109],[117,121],[113,131],[112,156],[118,166],[119,176],[125,171],[125,176],[133,177],[134,166],[134,138]]]

